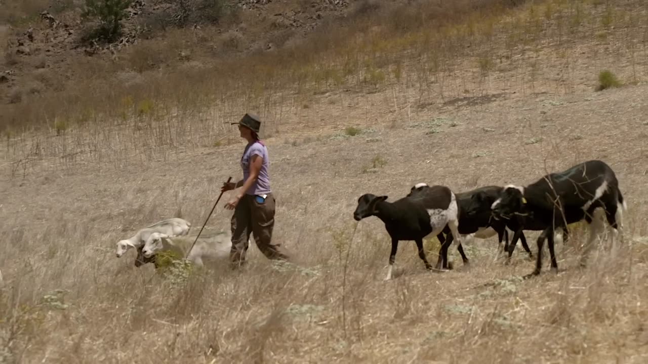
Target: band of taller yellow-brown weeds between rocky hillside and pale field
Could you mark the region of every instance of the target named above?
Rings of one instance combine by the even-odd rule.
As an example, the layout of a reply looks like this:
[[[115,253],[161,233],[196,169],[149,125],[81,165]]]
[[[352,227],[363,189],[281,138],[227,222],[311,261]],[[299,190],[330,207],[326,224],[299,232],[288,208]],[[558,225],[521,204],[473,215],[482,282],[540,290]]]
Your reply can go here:
[[[251,56],[224,52],[226,57],[218,57],[222,51],[203,45],[217,39],[211,28],[169,30],[163,41],[141,41],[110,62],[71,58],[75,72],[69,73],[63,93],[33,95],[4,107],[3,124],[47,127],[51,123],[43,111],[75,119],[89,109],[100,115],[102,127],[113,126],[128,112],[121,103],[128,95],[156,100],[170,109],[159,111],[160,116],[177,119],[176,112],[212,117],[214,109],[271,112],[275,105],[344,89],[399,94],[419,89],[419,97],[410,101],[415,107],[439,96],[480,96],[498,89],[500,82],[509,92],[572,92],[583,78],[587,84],[596,82],[596,76],[579,72],[592,62],[601,69],[618,65],[631,73],[613,69],[619,76],[643,80],[646,10],[636,0],[527,1],[516,8],[500,0],[428,3],[360,12],[346,23],[321,28],[303,43]],[[141,80],[115,78],[123,69],[141,72]],[[34,110],[33,104],[39,108]],[[174,124],[170,132],[185,124]]]

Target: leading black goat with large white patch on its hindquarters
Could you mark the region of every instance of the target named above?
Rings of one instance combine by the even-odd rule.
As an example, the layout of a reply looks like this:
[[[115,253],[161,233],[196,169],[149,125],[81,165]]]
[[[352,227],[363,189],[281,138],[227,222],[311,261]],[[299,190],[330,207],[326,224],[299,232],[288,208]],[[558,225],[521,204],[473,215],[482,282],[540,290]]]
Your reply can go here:
[[[391,237],[391,253],[389,268],[385,280],[391,279],[396,251],[400,240],[414,240],[419,250],[419,258],[426,269],[432,269],[423,251],[423,238],[428,234],[438,235],[446,225],[461,245],[461,237],[457,231],[459,225],[457,199],[445,186],[427,186],[419,183],[415,187],[425,188],[415,196],[404,197],[394,202],[388,202],[388,196],[364,194],[358,198],[358,206],[353,212],[353,218],[360,221],[369,216],[377,216],[385,223],[385,228]]]

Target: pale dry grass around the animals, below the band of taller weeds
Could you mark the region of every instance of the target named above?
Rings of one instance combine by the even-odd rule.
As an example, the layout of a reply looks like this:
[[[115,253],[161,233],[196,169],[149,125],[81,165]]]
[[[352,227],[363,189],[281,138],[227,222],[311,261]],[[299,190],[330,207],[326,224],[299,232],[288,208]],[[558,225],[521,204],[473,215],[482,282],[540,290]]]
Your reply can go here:
[[[579,271],[584,237],[576,232],[557,247],[559,275],[546,269],[525,282],[518,277],[535,263],[519,244],[513,264],[503,266],[492,263],[494,239],[476,242],[466,247],[470,269],[459,262],[444,274],[424,271],[414,245],[402,244],[396,279],[382,282],[388,237],[377,219],[360,222],[354,234],[351,211],[364,192],[395,199],[419,181],[456,190],[524,183],[544,168],[597,157],[618,173],[629,236],[645,236],[645,133],[637,132],[648,107],[645,91],[448,110],[443,120],[456,126],[441,124],[425,137],[428,123],[415,122],[301,146],[271,141],[275,239],[294,251],[299,267],[273,267],[251,247],[247,271],[219,267],[186,283],[156,275],[151,266],[136,269],[132,251],[115,258],[114,244],[178,210],[200,225],[222,180],[240,174],[240,142],[159,161],[129,159],[117,168],[77,162],[58,172],[27,168],[24,179],[5,175],[3,348],[25,363],[643,363],[645,238],[614,258],[602,248]],[[493,134],[484,130],[500,136],[485,139]],[[581,138],[572,140],[575,133]],[[526,144],[532,135],[542,141]],[[376,155],[385,162],[380,177],[367,177],[363,169]],[[210,227],[226,228],[230,214],[221,204]],[[535,250],[537,234],[528,236]],[[433,261],[435,253],[428,252]],[[456,249],[450,253],[456,261]]]

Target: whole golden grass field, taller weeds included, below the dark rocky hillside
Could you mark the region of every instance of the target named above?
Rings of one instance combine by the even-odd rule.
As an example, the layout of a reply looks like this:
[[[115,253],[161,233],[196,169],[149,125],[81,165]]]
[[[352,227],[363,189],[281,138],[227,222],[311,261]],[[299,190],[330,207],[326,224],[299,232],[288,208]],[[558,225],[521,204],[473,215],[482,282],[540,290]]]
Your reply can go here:
[[[192,88],[198,73],[178,71],[147,85],[156,95],[114,89],[105,108],[102,86],[87,98],[81,87],[76,103],[17,105],[34,128],[8,122],[0,148],[0,363],[646,363],[648,6],[554,0],[475,14],[441,43],[419,28],[358,36],[374,63],[339,84],[321,68],[343,66],[332,55],[302,65],[312,79],[301,84],[279,62],[268,78],[251,68],[268,81],[257,89]],[[622,84],[595,91],[605,69]],[[117,241],[150,223],[180,216],[200,229],[222,183],[242,176],[229,122],[246,111],[266,122],[273,239],[295,266],[253,244],[240,272],[162,275],[134,267],[132,250],[116,258]],[[522,280],[535,261],[519,242],[510,265],[494,261],[496,238],[464,247],[470,266],[453,245],[454,269],[433,273],[402,242],[384,282],[384,225],[353,220],[366,192],[394,201],[419,182],[526,184],[588,159],[612,166],[628,211],[626,244],[610,255],[601,243],[584,269],[575,228],[557,245],[558,274],[544,253],[542,274]],[[209,229],[229,226],[229,197]],[[526,232],[534,255],[537,235]],[[434,264],[438,245],[428,248]]]

